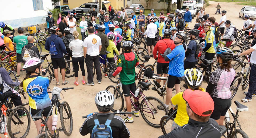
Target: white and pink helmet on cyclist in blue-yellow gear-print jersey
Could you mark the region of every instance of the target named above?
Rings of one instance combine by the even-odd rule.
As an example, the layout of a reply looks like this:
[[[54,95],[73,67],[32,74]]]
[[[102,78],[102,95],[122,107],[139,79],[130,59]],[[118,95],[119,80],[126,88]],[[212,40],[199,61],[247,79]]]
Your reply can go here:
[[[36,68],[40,67],[42,62],[43,60],[37,57],[32,57],[24,64],[23,69],[28,72],[34,72]]]

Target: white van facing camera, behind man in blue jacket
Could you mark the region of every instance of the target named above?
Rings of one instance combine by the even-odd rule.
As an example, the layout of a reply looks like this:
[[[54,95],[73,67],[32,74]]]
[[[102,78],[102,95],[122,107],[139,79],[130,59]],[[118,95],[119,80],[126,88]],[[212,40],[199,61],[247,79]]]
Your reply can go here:
[[[181,13],[184,16],[186,12],[186,7],[189,7],[189,11],[191,12],[192,19],[197,15],[197,2],[196,1],[183,1],[183,6],[181,7]]]

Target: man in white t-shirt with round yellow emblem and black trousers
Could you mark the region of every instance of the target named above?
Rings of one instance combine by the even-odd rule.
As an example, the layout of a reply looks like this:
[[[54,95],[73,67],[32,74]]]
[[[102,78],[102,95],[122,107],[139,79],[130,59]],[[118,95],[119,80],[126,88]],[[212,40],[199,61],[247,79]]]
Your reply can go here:
[[[99,66],[99,52],[101,51],[101,38],[94,34],[94,27],[88,27],[89,35],[83,41],[83,55],[87,69],[86,85],[93,86],[93,63],[96,69],[98,83],[101,83],[101,68]]]

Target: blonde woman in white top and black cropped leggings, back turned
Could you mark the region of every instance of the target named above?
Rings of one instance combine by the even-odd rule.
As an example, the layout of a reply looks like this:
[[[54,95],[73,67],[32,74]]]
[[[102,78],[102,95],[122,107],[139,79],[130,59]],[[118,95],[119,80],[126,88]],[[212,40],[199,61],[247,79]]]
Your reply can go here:
[[[72,50],[72,62],[73,62],[74,68],[75,68],[74,84],[76,86],[79,85],[79,83],[78,83],[78,70],[79,70],[78,62],[80,65],[80,69],[82,71],[82,76],[83,76],[82,83],[83,83],[83,85],[85,85],[85,83],[86,83],[85,59],[83,57],[83,41],[78,39],[78,35],[79,35],[78,32],[74,31],[73,32],[74,40],[69,43],[69,48],[70,48],[70,50]]]

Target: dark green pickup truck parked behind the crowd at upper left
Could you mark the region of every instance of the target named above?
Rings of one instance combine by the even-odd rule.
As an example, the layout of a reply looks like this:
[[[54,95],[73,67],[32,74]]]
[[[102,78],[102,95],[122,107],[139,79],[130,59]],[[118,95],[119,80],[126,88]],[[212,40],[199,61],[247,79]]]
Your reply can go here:
[[[74,14],[74,18],[78,21],[82,16],[84,11],[83,10],[77,10],[77,9],[73,9],[70,10],[69,6],[67,5],[63,5],[63,6],[55,6],[54,9],[58,9],[59,11],[62,12],[62,15],[67,15],[69,11],[71,11],[71,13]]]

